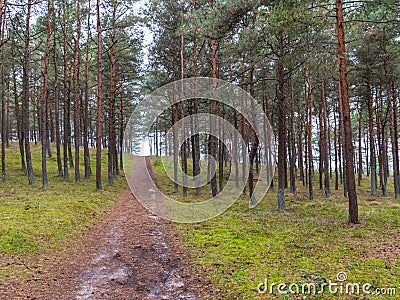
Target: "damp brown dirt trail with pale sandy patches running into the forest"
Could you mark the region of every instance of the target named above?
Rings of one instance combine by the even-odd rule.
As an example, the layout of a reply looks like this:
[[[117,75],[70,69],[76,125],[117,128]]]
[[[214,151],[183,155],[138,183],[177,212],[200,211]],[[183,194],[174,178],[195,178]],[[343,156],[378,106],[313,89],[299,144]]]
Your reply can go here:
[[[200,299],[173,229],[125,192],[93,240],[75,299]]]

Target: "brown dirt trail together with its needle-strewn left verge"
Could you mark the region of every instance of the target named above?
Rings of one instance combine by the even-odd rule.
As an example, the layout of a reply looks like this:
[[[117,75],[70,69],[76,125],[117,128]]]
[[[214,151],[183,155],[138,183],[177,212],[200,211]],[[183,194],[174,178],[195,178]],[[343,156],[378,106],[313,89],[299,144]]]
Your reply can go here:
[[[0,287],[0,298],[205,299],[206,284],[188,263],[175,225],[144,209],[129,189],[76,250],[46,259],[50,267],[34,280],[10,283],[5,294]]]

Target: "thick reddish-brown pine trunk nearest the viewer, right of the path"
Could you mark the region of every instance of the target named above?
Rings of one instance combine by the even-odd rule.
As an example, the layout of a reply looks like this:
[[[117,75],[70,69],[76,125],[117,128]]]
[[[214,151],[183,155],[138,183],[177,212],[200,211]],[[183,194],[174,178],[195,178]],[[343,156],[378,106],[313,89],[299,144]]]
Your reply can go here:
[[[346,49],[343,23],[343,3],[336,0],[336,29],[338,40],[339,76],[344,125],[344,152],[346,157],[346,182],[349,193],[349,222],[358,223],[358,203],[353,163],[350,105],[347,87]]]

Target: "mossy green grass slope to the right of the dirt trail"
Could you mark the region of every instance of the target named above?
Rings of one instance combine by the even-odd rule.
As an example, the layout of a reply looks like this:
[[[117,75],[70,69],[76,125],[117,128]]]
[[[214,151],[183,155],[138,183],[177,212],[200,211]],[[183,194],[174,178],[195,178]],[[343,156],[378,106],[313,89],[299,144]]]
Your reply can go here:
[[[171,195],[172,184],[161,164],[152,161],[159,185]],[[396,299],[400,297],[400,201],[370,197],[368,186],[364,179],[358,190],[358,226],[346,222],[348,204],[341,190],[333,191],[330,199],[318,190],[316,200],[309,201],[301,186],[299,196],[286,195],[285,213],[277,211],[272,189],[255,209],[249,209],[248,198],[242,197],[217,218],[178,228],[198,268],[211,279],[215,299],[355,299],[257,292],[265,278],[269,283],[318,285],[337,282],[339,272],[346,272],[346,282],[396,287],[392,298],[373,297]]]

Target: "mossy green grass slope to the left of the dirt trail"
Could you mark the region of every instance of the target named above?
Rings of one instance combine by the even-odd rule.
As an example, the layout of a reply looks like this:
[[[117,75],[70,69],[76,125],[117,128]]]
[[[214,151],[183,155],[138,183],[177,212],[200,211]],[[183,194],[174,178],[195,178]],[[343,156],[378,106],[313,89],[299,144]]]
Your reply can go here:
[[[18,145],[11,144],[6,151],[7,181],[0,183],[0,279],[10,278],[20,271],[29,272],[18,264],[6,263],[4,266],[4,260],[10,257],[37,257],[66,247],[87,230],[126,188],[122,176],[115,180],[114,186],[107,184],[106,152],[102,157],[104,190],[96,192],[94,176],[75,183],[72,168],[69,181],[58,177],[55,151],[53,158],[48,159],[49,187],[43,190],[39,145],[32,145],[36,182],[29,186],[20,167]],[[94,157],[93,152],[93,172]],[[82,161],[82,178],[83,171]]]

